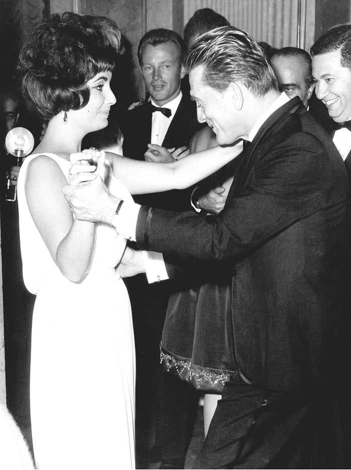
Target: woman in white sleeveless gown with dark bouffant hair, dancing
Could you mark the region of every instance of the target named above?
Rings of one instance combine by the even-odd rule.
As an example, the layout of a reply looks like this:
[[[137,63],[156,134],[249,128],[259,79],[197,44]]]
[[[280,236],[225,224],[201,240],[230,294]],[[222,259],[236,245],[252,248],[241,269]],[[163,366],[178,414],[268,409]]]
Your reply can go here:
[[[110,53],[101,30],[74,14],[43,22],[21,52],[25,90],[49,120],[18,181],[24,280],[37,295],[33,444],[37,468],[48,470],[134,467],[133,331],[115,269],[125,240],[111,226],[75,219],[62,193],[70,155],[79,160],[82,138],[107,125],[115,103]],[[238,153],[215,149],[171,164],[110,154],[100,176],[127,199],[113,173],[134,192],[180,189]]]

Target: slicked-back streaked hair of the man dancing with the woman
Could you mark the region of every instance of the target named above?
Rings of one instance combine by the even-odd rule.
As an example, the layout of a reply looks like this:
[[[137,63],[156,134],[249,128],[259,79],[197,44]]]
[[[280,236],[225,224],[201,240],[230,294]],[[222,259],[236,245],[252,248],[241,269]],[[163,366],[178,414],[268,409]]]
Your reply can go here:
[[[216,28],[196,39],[184,54],[184,65],[188,71],[203,66],[203,82],[219,92],[233,82],[242,83],[257,97],[278,89],[260,46],[248,33],[232,26]]]

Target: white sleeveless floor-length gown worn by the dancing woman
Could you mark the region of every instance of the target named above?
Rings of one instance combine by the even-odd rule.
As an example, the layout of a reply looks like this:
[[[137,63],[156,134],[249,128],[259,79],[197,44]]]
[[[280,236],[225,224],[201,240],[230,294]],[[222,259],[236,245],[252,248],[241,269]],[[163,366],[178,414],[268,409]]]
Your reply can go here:
[[[66,178],[70,162],[53,158]],[[134,468],[135,357],[130,303],[115,266],[126,241],[98,223],[90,271],[68,281],[53,262],[18,180],[26,287],[37,295],[32,329],[31,419],[37,468]],[[129,192],[106,163],[111,193]],[[45,178],[45,175],[43,175]],[[42,201],[43,205],[46,203]]]

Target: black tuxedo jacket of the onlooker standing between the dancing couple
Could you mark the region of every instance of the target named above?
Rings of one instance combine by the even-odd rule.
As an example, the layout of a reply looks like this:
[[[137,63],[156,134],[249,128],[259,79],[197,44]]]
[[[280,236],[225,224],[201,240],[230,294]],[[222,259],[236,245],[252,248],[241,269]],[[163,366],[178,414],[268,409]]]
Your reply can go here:
[[[128,111],[123,120],[123,154],[136,160],[144,160],[147,144],[151,142],[151,103],[147,102]],[[198,122],[196,104],[189,95],[183,94],[182,100],[164,136],[162,146],[179,148],[189,146],[193,135],[202,128]],[[135,196],[138,203],[165,209],[184,210],[190,207],[191,190],[172,190],[155,194]]]

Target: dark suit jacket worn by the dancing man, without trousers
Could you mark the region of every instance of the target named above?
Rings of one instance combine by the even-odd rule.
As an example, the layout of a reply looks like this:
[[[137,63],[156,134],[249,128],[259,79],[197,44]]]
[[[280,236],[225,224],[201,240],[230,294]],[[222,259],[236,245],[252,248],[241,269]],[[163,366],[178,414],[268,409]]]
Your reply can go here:
[[[246,147],[221,214],[143,206],[136,241],[188,261],[226,260],[239,374],[264,389],[313,389],[340,363],[347,192],[336,148],[294,98]]]

